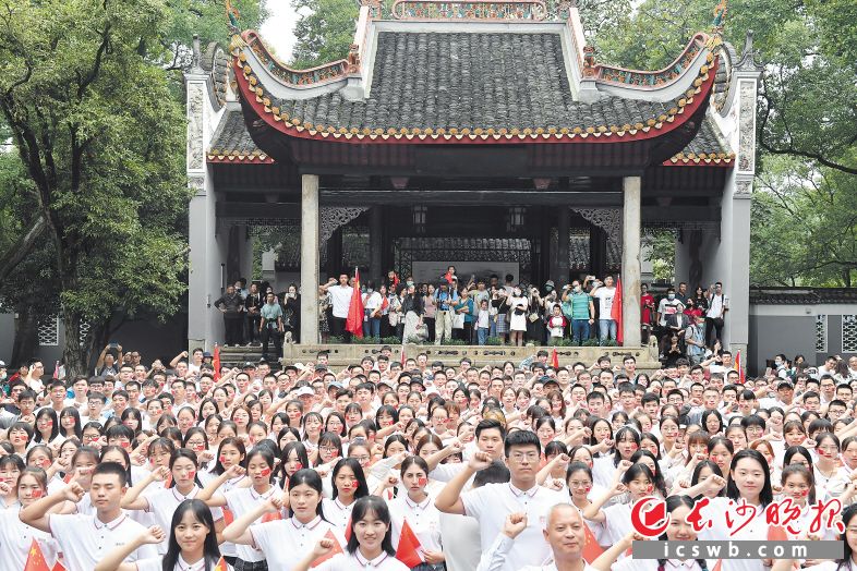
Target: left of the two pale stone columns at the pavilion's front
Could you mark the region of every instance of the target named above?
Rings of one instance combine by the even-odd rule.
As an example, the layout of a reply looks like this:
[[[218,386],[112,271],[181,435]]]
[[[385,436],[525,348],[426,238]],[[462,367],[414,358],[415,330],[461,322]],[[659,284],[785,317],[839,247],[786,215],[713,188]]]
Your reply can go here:
[[[301,177],[301,344],[318,342],[318,175]]]

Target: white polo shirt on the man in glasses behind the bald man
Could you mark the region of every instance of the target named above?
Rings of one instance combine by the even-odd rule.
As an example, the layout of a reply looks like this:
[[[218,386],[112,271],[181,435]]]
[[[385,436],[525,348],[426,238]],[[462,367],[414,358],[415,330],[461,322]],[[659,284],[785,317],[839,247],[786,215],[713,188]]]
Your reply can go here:
[[[547,512],[557,503],[568,503],[568,497],[542,486],[527,491],[511,483],[486,484],[461,495],[464,514],[479,520],[482,550],[486,551],[503,530],[509,513],[527,513],[527,527],[509,549],[505,571],[518,571],[529,564],[542,564],[551,556],[551,547],[542,535]]]

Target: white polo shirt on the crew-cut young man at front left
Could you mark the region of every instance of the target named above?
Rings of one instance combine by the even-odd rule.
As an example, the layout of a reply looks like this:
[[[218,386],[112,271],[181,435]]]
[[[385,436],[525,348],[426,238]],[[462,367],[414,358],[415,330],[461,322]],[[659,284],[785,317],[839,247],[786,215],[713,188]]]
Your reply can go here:
[[[60,545],[63,562],[69,571],[92,571],[111,549],[126,545],[146,531],[125,513],[108,523],[102,523],[95,515],[52,513],[48,522],[50,533]],[[143,545],[125,561],[133,562],[157,555],[154,545]]]

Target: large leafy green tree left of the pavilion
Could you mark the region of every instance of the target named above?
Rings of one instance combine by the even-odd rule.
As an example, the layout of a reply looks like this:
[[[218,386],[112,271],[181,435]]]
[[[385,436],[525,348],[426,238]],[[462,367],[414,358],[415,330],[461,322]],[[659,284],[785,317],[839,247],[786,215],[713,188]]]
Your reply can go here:
[[[7,0],[0,22],[0,111],[28,179],[22,201],[46,224],[63,359],[83,373],[114,312],[167,316],[184,289],[184,114],[140,49],[169,12],[158,0]]]

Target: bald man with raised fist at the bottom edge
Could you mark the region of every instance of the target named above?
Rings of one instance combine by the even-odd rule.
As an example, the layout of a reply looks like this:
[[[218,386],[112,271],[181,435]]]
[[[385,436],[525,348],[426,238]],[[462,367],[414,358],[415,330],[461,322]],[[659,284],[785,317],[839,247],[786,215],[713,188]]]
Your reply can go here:
[[[547,512],[542,535],[551,546],[552,560],[542,566],[527,566],[520,571],[595,571],[583,560],[583,546],[587,536],[583,518],[570,503],[557,503]],[[527,527],[526,513],[510,513],[506,518],[503,532],[480,561],[476,571],[502,569],[506,554],[515,544],[516,537]]]

